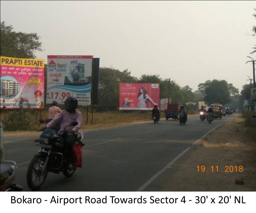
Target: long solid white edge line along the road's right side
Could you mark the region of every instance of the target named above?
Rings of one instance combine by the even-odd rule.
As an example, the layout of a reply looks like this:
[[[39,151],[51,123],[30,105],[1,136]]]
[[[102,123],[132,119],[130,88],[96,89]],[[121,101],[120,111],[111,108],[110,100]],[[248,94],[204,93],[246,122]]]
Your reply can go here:
[[[230,118],[229,118],[230,119]],[[223,121],[221,124],[215,126],[212,130],[216,129],[218,126],[224,124],[226,121],[228,121],[229,119]],[[192,145],[196,144],[198,141],[200,141],[202,138],[204,138],[207,134],[209,134],[210,132],[212,132],[212,130],[210,130],[209,132],[207,132],[205,135],[203,135],[200,139],[198,139],[195,143],[193,143]],[[192,146],[191,146],[192,147]],[[183,156],[191,147],[186,148],[183,152],[181,152],[177,157],[175,157],[170,163],[168,163],[165,167],[163,167],[162,170],[160,170],[157,174],[155,174],[153,177],[151,177],[149,180],[147,180],[146,183],[144,183],[140,188],[137,189],[137,192],[142,192],[144,189],[146,189],[149,184],[151,184],[155,179],[157,179],[166,169],[168,169],[173,163],[175,163],[181,156]]]

